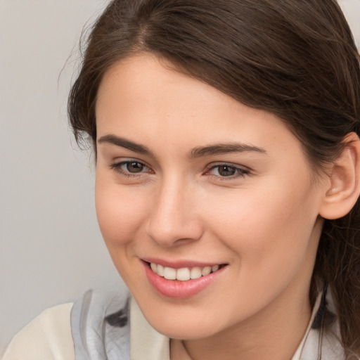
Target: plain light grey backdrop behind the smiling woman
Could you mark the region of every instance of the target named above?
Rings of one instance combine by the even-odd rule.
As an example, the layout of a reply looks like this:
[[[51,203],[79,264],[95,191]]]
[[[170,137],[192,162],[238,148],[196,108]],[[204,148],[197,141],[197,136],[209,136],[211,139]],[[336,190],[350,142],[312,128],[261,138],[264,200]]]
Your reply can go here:
[[[46,307],[123,286],[66,119],[82,27],[107,1],[0,0],[0,354]],[[340,4],[360,48],[360,0]]]

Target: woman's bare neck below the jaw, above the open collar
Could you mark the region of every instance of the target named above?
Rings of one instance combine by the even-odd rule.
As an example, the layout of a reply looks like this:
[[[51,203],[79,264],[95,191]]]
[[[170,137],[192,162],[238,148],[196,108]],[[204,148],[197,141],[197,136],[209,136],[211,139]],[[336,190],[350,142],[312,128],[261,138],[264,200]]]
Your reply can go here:
[[[276,302],[276,303],[275,303]],[[172,360],[289,360],[311,317],[308,297],[276,299],[251,319],[199,340],[172,340]]]

